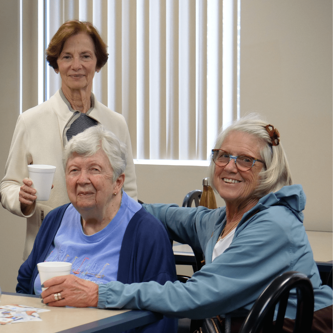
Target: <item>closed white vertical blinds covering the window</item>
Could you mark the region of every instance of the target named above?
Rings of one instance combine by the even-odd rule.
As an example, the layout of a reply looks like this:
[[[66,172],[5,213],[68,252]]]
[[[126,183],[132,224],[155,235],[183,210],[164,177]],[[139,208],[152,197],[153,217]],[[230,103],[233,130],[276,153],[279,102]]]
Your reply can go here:
[[[227,2],[237,13],[237,1]],[[237,117],[234,93],[230,95],[228,110],[222,112],[222,36],[225,35],[222,1],[32,0],[31,3],[39,10],[43,8],[39,11],[44,13],[43,24],[36,17],[29,22],[23,18],[23,29],[29,24],[36,29],[34,22],[39,22],[38,31],[44,29],[44,50],[67,20],[90,21],[99,30],[108,45],[109,60],[95,74],[93,92],[98,101],[125,117],[135,159],[199,162],[209,158],[222,122]],[[24,6],[23,1],[23,13]],[[236,35],[237,40],[237,19],[232,22],[230,34]],[[29,47],[32,48],[23,41],[23,50]],[[232,44],[231,48],[236,50],[231,53],[237,59],[237,45]],[[228,71],[236,78],[237,61],[229,67]],[[45,78],[44,82],[39,79],[39,86],[43,87],[38,90],[40,103],[59,89],[61,80],[45,62],[38,68]],[[27,74],[23,76],[25,92],[24,81],[28,80]],[[233,79],[233,86],[236,81]]]

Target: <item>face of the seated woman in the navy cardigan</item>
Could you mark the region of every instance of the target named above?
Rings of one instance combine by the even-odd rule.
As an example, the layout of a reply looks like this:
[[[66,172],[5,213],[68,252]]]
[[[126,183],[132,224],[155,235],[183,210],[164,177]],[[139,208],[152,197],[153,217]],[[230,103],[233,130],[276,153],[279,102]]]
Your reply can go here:
[[[119,193],[124,183],[122,176],[113,182],[113,169],[101,149],[89,157],[73,153],[65,177],[68,197],[80,214],[84,210],[112,209],[113,193]]]

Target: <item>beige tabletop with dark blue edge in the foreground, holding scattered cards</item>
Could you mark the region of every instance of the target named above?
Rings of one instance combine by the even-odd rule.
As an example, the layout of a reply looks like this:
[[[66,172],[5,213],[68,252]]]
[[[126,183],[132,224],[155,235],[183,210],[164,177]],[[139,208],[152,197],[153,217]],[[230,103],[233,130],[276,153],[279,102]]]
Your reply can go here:
[[[35,295],[3,292],[0,305],[20,304],[51,311],[40,313],[42,321],[1,325],[1,333],[120,333],[162,319],[161,314],[141,310],[51,307]]]

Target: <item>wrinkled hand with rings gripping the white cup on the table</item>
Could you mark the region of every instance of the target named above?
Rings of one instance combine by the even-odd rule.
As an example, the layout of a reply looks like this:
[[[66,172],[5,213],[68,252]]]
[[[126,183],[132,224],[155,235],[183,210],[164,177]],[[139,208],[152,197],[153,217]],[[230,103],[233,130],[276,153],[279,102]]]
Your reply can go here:
[[[41,294],[43,303],[49,306],[97,307],[98,285],[74,275],[53,277],[43,283],[46,288]],[[54,294],[61,293],[61,300],[55,301]]]

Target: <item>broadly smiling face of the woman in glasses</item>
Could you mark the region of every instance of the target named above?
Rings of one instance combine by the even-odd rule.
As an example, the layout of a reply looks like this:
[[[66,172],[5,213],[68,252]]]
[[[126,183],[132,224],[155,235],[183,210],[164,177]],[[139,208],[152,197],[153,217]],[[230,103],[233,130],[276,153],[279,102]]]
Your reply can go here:
[[[233,156],[247,155],[262,160],[259,153],[261,146],[262,143],[253,135],[234,131],[226,136],[220,149]],[[262,166],[262,163],[255,162],[248,171],[239,171],[231,159],[226,166],[215,166],[214,186],[227,204],[246,204],[253,198]]]

